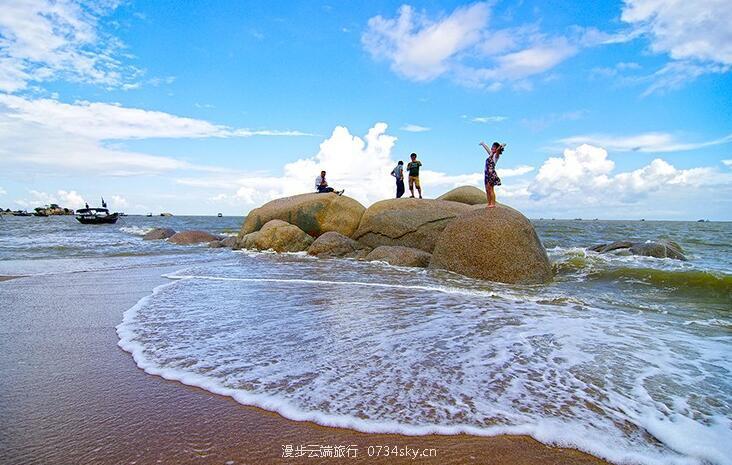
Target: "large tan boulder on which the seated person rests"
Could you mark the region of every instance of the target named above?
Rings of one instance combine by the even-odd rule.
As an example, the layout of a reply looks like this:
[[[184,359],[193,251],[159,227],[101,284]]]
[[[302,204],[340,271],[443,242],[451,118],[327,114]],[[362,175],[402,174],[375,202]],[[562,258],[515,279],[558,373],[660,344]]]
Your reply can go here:
[[[247,215],[239,237],[259,231],[270,220],[282,220],[313,237],[328,231],[351,236],[365,208],[358,201],[336,194],[301,194],[267,202]]]

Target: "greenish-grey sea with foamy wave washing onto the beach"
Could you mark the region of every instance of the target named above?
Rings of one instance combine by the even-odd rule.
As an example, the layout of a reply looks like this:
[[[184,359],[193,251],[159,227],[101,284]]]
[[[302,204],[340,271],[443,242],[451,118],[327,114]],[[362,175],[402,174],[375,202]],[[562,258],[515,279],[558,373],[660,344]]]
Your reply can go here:
[[[532,286],[141,238],[242,220],[4,216],[0,275],[172,266],[119,346],[150,375],[292,420],[732,464],[732,223],[533,220],[555,277]],[[688,261],[588,250],[655,239]]]

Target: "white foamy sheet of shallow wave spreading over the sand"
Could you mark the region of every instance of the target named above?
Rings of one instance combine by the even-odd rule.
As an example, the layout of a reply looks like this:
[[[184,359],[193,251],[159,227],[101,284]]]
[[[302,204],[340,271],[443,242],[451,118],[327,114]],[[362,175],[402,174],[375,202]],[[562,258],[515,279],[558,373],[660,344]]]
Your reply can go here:
[[[277,259],[180,273],[125,313],[120,346],[150,374],[292,420],[732,463],[729,337],[551,289]]]

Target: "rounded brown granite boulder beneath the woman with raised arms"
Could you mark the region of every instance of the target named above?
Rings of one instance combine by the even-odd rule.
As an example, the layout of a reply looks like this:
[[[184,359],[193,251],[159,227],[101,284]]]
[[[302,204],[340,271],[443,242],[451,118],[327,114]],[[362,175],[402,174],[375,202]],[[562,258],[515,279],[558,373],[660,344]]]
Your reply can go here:
[[[531,222],[505,205],[472,209],[440,234],[430,268],[511,284],[544,283],[552,267]]]

